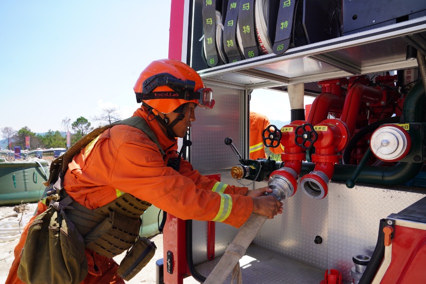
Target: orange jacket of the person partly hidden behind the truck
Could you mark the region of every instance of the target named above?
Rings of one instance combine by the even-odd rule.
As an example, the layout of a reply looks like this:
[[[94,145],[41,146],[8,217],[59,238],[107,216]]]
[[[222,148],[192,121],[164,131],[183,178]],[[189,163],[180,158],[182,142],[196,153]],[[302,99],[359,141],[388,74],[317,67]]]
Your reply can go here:
[[[252,111],[250,112],[250,159],[268,158],[265,153],[262,132],[270,124],[269,119],[265,115]],[[276,126],[280,127],[278,125]],[[274,144],[275,143],[276,142],[274,142]],[[269,149],[274,154],[281,154],[284,152],[284,148],[281,144],[276,148],[270,147]]]

